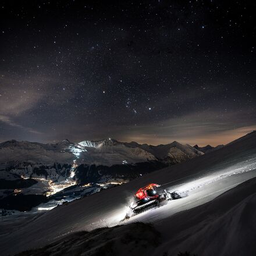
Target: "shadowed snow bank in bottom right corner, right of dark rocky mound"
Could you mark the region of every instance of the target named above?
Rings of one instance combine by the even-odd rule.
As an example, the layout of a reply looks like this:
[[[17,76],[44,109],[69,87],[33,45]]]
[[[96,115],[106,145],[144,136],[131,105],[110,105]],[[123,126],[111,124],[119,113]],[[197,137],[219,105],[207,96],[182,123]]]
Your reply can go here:
[[[158,223],[164,238],[155,255],[180,250],[202,256],[256,255],[255,214],[256,178]]]

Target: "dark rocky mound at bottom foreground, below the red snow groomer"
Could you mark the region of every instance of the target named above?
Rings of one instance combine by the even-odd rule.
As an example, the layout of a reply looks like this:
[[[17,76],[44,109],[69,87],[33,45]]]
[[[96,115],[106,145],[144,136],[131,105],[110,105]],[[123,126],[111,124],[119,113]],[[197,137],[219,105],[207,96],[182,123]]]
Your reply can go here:
[[[153,226],[132,223],[126,226],[105,227],[91,232],[76,232],[68,237],[62,237],[49,246],[26,251],[19,256],[149,255],[160,241],[159,232]]]

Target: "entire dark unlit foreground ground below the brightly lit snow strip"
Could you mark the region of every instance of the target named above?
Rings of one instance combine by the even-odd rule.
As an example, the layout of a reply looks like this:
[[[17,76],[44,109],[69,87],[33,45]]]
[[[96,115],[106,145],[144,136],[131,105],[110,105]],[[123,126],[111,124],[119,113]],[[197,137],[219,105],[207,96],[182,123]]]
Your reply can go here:
[[[256,178],[214,200],[154,226],[133,222],[76,232],[20,256],[44,255],[256,255]],[[81,250],[83,248],[83,250]],[[186,254],[184,254],[186,255]],[[191,254],[193,255],[193,254]]]

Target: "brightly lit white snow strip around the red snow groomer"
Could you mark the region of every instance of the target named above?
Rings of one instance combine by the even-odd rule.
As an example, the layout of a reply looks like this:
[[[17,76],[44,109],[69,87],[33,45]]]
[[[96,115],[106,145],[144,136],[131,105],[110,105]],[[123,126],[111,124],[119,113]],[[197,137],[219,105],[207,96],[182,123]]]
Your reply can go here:
[[[227,168],[218,169],[211,173],[205,172],[204,175],[198,176],[190,175],[183,177],[182,179],[173,180],[170,183],[163,184],[162,187],[167,184],[172,184],[183,180],[180,184],[175,186],[166,187],[166,190],[172,192],[177,191],[182,195],[181,199],[168,201],[167,204],[162,205],[159,208],[151,209],[132,216],[129,220],[121,223],[130,223],[134,221],[155,221],[156,219],[166,218],[172,214],[175,214],[184,209],[196,207],[204,204],[207,201],[211,201],[219,194],[232,189],[233,187],[245,182],[248,179],[256,177],[256,156],[241,161]],[[194,179],[193,179],[194,177]],[[132,196],[132,195],[131,195]],[[115,226],[120,224],[120,221],[125,218],[126,213],[129,212],[129,204],[123,205],[119,210],[115,211],[110,218],[105,219],[107,226]],[[176,207],[176,208],[175,208]]]

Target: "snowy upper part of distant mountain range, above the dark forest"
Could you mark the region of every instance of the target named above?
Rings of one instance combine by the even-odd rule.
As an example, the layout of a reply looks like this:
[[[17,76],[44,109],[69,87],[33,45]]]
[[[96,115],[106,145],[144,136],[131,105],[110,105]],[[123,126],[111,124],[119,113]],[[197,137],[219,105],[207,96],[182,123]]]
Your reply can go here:
[[[177,141],[166,145],[147,145],[136,142],[122,143],[111,138],[99,141],[72,143],[63,140],[56,144],[10,140],[0,143],[0,163],[33,162],[51,165],[73,163],[74,160],[88,165],[119,165],[162,161],[178,163],[202,155],[197,148]]]

